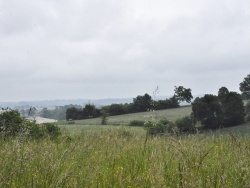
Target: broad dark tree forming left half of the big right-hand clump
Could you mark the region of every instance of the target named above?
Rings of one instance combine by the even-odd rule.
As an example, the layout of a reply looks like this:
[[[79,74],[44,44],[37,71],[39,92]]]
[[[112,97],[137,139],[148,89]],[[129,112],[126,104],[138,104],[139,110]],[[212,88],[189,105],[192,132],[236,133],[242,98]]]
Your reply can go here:
[[[222,111],[217,96],[205,95],[197,97],[192,103],[195,122],[201,122],[205,129],[216,129],[222,123]]]

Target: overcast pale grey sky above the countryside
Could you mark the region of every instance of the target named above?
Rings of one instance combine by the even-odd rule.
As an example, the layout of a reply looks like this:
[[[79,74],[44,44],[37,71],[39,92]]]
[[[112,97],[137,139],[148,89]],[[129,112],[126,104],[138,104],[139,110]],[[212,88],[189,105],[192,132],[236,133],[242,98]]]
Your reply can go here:
[[[0,0],[0,101],[239,92],[249,0]]]

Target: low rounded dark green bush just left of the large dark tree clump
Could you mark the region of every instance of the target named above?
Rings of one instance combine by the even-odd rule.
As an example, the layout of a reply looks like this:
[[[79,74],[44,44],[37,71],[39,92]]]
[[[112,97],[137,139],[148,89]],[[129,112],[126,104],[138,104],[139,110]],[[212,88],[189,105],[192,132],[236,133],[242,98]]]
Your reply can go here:
[[[175,121],[175,124],[180,132],[183,133],[192,133],[195,131],[195,125],[190,116],[185,116],[183,118],[179,118]]]

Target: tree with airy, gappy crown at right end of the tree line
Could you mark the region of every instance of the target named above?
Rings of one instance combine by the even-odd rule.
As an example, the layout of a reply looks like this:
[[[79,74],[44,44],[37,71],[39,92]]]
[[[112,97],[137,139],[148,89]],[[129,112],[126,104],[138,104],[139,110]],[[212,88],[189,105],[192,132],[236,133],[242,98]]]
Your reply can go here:
[[[186,101],[187,103],[190,103],[193,99],[191,91],[192,90],[190,88],[186,89],[183,86],[175,86],[174,97],[180,102]]]

